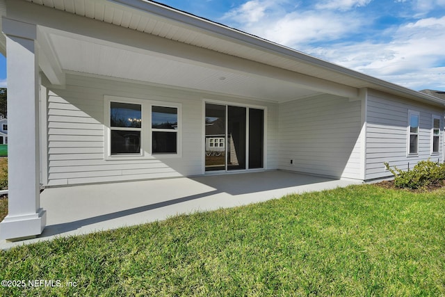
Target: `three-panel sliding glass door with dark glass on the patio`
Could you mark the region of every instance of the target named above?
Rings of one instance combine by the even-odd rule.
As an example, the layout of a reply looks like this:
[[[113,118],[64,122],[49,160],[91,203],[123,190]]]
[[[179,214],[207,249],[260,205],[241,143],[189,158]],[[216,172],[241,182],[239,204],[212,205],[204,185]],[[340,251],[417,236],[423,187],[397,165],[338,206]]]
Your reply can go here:
[[[264,110],[207,103],[205,170],[264,168]]]

